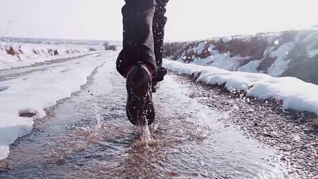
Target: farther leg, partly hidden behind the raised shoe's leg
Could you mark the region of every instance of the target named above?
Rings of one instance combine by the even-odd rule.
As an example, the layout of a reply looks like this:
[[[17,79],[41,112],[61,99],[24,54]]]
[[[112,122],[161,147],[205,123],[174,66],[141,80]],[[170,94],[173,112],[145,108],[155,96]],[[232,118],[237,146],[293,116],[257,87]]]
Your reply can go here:
[[[156,11],[153,19],[153,34],[154,34],[154,47],[155,57],[157,65],[157,75],[153,78],[152,91],[156,92],[163,80],[167,71],[162,67],[163,58],[163,38],[164,38],[164,26],[167,22],[167,17],[164,16],[166,12],[166,4],[169,0],[156,0]]]

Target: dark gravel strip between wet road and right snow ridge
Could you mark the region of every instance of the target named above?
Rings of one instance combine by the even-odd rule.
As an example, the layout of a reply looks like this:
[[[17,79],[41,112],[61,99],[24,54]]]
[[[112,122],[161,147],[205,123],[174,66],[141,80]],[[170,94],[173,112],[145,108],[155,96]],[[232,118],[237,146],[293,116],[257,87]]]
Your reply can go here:
[[[259,100],[247,97],[242,90],[197,83],[196,76],[176,74],[174,78],[188,87],[190,97],[214,110],[228,112],[228,118],[222,119],[228,124],[226,127],[236,127],[246,138],[276,149],[289,174],[318,179],[316,114],[283,109],[281,100]]]

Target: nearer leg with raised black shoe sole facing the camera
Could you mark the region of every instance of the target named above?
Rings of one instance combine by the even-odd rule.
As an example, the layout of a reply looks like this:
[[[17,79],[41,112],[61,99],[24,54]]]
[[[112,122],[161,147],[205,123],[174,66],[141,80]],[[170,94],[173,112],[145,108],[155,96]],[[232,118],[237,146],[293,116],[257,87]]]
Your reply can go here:
[[[157,75],[154,52],[153,17],[155,0],[125,0],[123,49],[116,61],[117,71],[126,78],[126,114],[134,125],[151,125],[155,120],[152,78]]]

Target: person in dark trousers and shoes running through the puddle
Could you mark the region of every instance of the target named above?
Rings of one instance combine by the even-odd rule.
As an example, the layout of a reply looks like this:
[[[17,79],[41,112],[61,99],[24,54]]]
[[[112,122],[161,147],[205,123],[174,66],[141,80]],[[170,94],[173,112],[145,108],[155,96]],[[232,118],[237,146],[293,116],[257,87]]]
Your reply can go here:
[[[121,9],[123,49],[116,69],[126,78],[126,114],[133,125],[151,125],[155,120],[152,93],[167,74],[162,67],[167,2],[125,0]]]

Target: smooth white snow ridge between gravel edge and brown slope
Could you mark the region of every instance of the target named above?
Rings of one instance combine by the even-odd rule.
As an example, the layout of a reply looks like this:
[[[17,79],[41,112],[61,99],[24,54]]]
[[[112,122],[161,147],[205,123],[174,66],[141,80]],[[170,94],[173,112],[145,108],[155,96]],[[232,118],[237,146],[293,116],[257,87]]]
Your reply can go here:
[[[318,114],[318,86],[297,78],[274,78],[266,74],[230,72],[216,67],[184,64],[163,60],[163,66],[179,74],[200,73],[197,82],[224,84],[227,89],[244,89],[247,96],[260,99],[276,98],[283,100],[283,108],[309,111]]]

